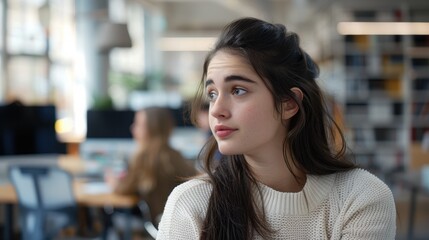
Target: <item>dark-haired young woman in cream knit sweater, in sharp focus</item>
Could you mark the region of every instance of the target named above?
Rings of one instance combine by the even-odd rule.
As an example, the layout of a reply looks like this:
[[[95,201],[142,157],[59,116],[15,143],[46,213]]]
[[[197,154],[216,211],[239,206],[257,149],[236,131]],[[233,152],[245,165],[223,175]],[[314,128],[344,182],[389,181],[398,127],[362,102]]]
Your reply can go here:
[[[226,26],[193,106],[210,101],[206,177],[175,188],[158,239],[394,239],[392,193],[333,140],[317,77],[283,25]]]

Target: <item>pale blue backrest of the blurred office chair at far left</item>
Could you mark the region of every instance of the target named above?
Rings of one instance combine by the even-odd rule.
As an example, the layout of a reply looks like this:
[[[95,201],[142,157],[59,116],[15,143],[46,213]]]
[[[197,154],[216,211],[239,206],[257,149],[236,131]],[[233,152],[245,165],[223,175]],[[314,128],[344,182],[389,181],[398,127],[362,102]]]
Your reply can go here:
[[[56,209],[76,204],[71,175],[53,166],[9,167],[19,204],[29,209]]]

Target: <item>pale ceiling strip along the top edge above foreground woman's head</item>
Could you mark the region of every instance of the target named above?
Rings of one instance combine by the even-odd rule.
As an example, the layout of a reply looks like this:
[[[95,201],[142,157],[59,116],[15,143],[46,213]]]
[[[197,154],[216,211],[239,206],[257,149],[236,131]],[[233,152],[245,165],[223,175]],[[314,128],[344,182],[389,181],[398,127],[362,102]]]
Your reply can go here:
[[[139,0],[162,9],[173,32],[218,31],[233,19],[253,16],[299,28],[332,7],[429,9],[429,0]]]

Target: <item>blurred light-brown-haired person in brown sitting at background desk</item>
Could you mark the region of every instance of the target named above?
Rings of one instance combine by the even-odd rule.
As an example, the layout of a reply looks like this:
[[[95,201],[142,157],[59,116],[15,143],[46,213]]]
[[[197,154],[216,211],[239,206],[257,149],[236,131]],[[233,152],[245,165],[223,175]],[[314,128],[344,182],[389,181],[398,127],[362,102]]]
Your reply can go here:
[[[135,113],[131,133],[138,150],[128,171],[119,179],[109,179],[114,191],[137,194],[144,199],[157,222],[174,187],[196,174],[190,161],[169,144],[174,119],[166,108],[148,107]]]

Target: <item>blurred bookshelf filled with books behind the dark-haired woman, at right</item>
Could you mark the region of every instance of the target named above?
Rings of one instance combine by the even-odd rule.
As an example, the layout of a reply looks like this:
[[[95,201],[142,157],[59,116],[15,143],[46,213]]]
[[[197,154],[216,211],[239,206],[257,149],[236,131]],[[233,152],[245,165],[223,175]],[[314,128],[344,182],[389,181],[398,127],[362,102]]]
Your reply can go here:
[[[341,21],[408,21],[410,9],[343,9]],[[407,20],[405,20],[407,19]],[[410,19],[412,20],[412,19]],[[407,168],[409,146],[429,129],[429,36],[342,35],[341,103],[356,162],[379,172]]]

